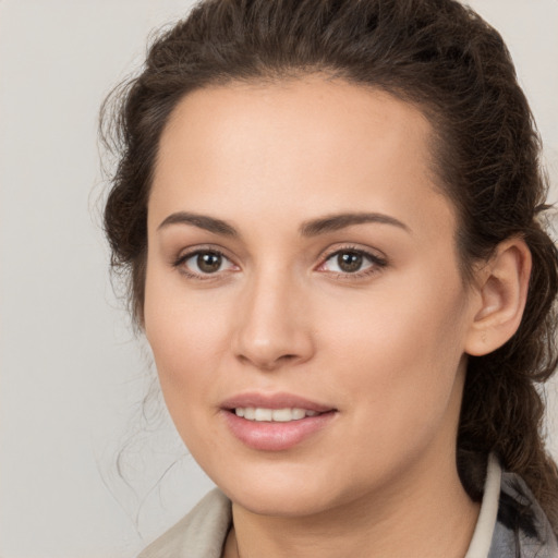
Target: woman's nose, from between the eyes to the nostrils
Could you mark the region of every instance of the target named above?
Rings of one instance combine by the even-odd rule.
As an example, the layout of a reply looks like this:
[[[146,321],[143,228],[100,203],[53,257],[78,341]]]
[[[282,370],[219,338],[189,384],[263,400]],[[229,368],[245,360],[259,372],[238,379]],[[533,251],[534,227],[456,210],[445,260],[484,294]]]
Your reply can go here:
[[[274,274],[270,274],[274,275]],[[233,352],[244,364],[274,371],[308,361],[314,354],[307,298],[295,281],[262,276],[239,300]]]

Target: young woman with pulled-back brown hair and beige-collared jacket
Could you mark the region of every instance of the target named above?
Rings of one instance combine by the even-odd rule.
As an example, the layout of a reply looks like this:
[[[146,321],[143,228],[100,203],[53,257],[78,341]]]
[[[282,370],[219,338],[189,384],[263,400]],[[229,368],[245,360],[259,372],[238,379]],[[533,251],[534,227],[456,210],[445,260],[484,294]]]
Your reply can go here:
[[[558,556],[558,259],[499,35],[209,0],[122,95],[113,264],[219,488],[142,557]]]

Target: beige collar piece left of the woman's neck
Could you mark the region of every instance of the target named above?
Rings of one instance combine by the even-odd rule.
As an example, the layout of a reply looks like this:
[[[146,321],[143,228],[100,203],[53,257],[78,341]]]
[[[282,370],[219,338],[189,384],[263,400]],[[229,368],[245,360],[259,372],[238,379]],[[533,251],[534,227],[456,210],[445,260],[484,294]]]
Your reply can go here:
[[[215,488],[137,558],[220,558],[230,523],[230,500]]]

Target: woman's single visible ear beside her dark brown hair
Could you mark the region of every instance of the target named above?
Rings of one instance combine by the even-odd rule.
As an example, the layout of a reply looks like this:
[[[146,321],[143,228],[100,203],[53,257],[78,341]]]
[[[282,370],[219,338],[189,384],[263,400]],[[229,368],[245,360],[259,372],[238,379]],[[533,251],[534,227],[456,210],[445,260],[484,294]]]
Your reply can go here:
[[[476,306],[465,342],[468,354],[488,354],[518,330],[527,298],[531,262],[525,242],[513,238],[500,243],[494,256],[476,271]]]

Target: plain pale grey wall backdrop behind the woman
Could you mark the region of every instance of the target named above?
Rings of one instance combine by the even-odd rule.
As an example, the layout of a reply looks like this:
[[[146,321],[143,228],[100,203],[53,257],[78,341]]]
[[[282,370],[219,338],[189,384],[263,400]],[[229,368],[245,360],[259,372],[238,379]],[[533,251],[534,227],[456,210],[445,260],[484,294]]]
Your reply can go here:
[[[1,558],[130,558],[211,486],[157,401],[142,416],[153,366],[112,293],[98,226],[99,106],[149,32],[191,4],[0,0]],[[558,0],[472,5],[513,54],[556,202]],[[129,484],[113,465],[122,447]]]

